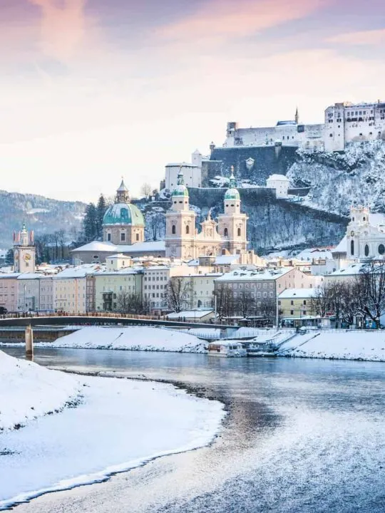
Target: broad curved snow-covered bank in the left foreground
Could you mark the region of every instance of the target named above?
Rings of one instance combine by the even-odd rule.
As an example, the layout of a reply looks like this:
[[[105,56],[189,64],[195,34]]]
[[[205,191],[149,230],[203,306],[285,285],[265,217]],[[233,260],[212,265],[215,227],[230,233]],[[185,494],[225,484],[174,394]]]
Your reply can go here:
[[[1,352],[0,358],[3,425],[24,424],[0,432],[0,509],[46,492],[101,482],[154,457],[207,445],[225,415],[221,403],[172,385],[79,378]],[[12,374],[6,372],[9,368]],[[54,388],[53,383],[60,386]],[[79,387],[82,398],[76,408],[56,413],[68,397],[76,397]],[[24,403],[11,403],[11,388],[24,390]],[[32,407],[34,414],[26,415]],[[43,415],[47,410],[53,415]],[[43,416],[31,418],[38,414]]]

